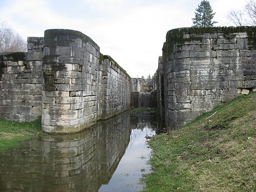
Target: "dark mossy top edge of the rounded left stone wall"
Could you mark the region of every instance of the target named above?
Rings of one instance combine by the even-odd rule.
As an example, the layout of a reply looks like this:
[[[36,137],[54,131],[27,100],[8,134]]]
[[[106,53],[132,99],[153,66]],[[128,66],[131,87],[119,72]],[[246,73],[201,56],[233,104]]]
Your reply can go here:
[[[81,38],[82,40],[86,41],[86,42],[91,42],[91,44],[97,49],[99,50],[99,46],[96,44],[96,42],[94,42],[89,36],[83,34],[80,31],[76,31],[76,30],[72,30],[72,29],[47,29],[45,31],[45,38],[51,36],[51,35],[58,35],[58,34],[62,34],[62,35],[74,35],[77,36],[78,38]]]

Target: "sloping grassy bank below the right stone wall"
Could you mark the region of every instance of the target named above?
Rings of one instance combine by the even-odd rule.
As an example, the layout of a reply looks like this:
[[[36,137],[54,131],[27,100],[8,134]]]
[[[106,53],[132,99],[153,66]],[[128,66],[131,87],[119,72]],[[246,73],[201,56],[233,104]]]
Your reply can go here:
[[[256,94],[153,137],[144,191],[256,191]]]

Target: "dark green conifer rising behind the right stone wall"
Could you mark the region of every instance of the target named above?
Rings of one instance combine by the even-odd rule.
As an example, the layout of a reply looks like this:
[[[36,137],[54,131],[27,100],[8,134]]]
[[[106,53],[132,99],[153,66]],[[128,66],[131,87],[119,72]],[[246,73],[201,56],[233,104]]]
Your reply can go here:
[[[193,27],[213,27],[214,24],[218,23],[212,21],[215,13],[212,13],[210,3],[206,0],[203,0],[195,12],[195,18],[193,18]]]

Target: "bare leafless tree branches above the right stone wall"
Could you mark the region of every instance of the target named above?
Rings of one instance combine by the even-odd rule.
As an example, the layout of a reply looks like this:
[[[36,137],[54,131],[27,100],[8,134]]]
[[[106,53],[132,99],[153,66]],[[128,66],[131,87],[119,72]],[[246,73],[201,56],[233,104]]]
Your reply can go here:
[[[238,10],[231,10],[226,18],[232,25],[256,25],[256,0],[250,0],[246,3],[244,8]]]

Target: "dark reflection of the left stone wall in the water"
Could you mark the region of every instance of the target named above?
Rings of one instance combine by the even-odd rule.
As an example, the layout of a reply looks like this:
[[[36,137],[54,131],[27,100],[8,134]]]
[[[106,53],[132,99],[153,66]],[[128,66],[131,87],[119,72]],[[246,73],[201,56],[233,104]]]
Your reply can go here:
[[[28,140],[22,150],[0,154],[0,191],[98,191],[129,144],[129,112],[92,128]]]

